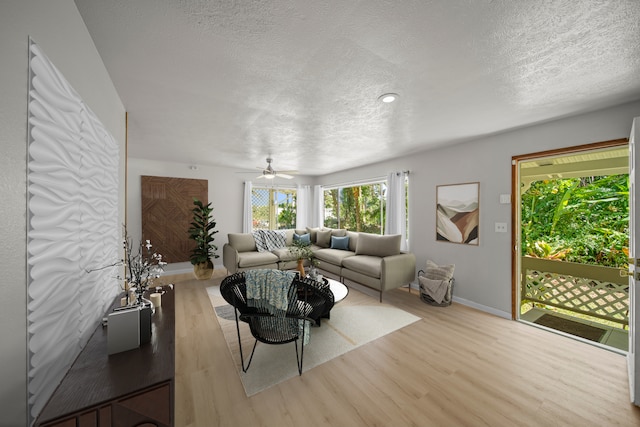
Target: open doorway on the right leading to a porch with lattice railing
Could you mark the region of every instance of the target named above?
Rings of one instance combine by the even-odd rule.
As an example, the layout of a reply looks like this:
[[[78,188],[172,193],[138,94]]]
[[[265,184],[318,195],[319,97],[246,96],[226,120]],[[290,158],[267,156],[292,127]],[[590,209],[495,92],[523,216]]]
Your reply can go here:
[[[626,351],[627,141],[513,160],[514,317]]]

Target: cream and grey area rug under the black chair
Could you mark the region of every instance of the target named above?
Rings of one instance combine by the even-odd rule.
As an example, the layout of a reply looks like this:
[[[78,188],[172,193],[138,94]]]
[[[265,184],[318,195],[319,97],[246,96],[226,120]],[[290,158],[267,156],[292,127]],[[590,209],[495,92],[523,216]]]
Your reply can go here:
[[[298,375],[293,343],[258,343],[250,368],[246,373],[242,372],[233,308],[222,298],[218,286],[208,287],[207,292],[247,396]],[[322,319],[322,326],[310,328],[310,341],[304,347],[303,375],[322,363],[418,320],[419,317],[387,304],[349,305],[342,301],[333,307],[330,319]],[[248,358],[254,339],[246,324],[241,322],[240,326],[243,353]]]

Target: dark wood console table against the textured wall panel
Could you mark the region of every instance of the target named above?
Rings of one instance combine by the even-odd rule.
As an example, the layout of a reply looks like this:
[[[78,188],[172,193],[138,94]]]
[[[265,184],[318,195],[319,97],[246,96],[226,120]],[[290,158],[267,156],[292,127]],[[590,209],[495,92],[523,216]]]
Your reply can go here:
[[[174,425],[174,290],[163,289],[162,306],[152,316],[151,342],[109,356],[107,328],[98,326],[36,426]],[[119,305],[120,297],[116,301]]]

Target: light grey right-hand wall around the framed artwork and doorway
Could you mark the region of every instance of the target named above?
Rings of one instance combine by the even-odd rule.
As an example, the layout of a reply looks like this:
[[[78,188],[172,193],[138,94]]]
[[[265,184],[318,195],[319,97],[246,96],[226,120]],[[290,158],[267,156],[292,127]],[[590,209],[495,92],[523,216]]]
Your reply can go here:
[[[464,144],[418,153],[387,162],[323,176],[319,183],[410,170],[409,242],[418,269],[429,258],[456,264],[455,298],[494,314],[511,316],[511,205],[499,203],[511,193],[511,157],[561,147],[628,138],[640,102],[561,119]],[[460,125],[464,126],[461,118]],[[480,182],[480,245],[435,239],[435,191],[441,184]],[[495,222],[509,224],[496,233]]]

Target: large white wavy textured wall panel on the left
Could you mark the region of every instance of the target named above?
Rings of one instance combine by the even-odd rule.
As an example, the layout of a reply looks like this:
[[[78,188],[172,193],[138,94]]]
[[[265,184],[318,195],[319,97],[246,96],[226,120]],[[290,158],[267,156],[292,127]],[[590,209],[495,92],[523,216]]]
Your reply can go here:
[[[30,44],[29,405],[37,416],[119,292],[118,144]]]

